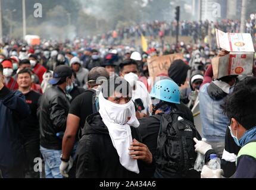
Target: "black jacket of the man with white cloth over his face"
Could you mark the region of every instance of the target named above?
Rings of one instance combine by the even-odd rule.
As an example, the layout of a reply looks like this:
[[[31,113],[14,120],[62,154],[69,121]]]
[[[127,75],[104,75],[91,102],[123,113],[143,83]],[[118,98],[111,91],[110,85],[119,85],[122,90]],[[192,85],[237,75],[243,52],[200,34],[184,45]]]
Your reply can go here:
[[[77,147],[76,178],[150,178],[153,175],[154,162],[146,164],[138,161],[139,174],[130,172],[120,164],[108,128],[99,113],[88,116],[83,129]],[[141,142],[138,130],[133,127],[131,130],[132,137]]]

